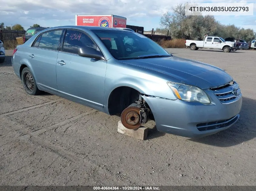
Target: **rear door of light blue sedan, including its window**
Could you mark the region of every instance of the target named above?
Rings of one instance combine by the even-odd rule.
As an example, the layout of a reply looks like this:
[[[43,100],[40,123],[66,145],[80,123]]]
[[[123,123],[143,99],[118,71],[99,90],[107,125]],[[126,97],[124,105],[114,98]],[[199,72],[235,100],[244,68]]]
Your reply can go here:
[[[56,61],[62,29],[51,30],[40,34],[30,52],[28,60],[32,66],[37,84],[57,92]]]

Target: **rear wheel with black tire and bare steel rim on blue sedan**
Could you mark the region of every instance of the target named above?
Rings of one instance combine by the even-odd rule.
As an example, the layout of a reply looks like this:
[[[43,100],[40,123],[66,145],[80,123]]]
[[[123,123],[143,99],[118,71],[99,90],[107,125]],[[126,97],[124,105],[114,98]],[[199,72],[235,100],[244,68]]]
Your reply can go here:
[[[37,88],[35,77],[28,67],[24,68],[21,73],[22,85],[29,95],[38,95],[41,91]]]

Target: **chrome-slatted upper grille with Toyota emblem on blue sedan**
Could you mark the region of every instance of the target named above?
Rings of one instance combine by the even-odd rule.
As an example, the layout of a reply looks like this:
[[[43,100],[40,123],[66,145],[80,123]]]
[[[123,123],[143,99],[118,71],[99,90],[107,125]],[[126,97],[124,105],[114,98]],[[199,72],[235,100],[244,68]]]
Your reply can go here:
[[[239,85],[234,81],[218,88],[211,88],[211,90],[222,104],[233,103],[242,96]]]

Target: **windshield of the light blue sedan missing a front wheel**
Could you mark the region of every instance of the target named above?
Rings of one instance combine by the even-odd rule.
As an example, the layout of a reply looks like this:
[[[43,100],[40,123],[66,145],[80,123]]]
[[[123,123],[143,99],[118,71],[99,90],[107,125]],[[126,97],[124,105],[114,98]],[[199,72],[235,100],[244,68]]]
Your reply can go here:
[[[93,30],[93,32],[118,60],[172,56],[157,43],[139,33],[125,30]]]

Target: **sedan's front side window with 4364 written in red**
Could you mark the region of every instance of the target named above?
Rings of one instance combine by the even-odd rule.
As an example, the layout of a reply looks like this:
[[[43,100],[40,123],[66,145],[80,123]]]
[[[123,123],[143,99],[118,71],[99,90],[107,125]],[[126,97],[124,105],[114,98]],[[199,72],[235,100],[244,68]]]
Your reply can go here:
[[[92,47],[99,50],[97,45],[85,33],[77,30],[67,30],[62,51],[78,54],[79,47]]]

